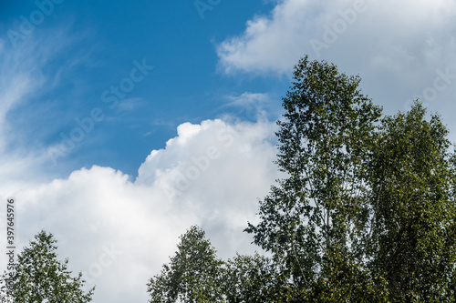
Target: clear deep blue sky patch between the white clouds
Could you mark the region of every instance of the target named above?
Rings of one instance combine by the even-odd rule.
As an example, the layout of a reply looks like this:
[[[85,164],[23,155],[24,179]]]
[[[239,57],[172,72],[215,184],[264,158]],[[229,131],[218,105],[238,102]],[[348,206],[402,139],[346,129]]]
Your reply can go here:
[[[21,34],[21,16],[34,25],[31,21],[38,6],[32,1],[7,5],[2,32]],[[60,142],[62,132],[69,136],[78,126],[74,119],[89,116],[93,107],[101,108],[106,118],[65,159],[58,158],[59,163],[72,163],[71,168],[98,164],[136,177],[144,157],[151,149],[163,147],[181,122],[197,123],[239,109],[226,106],[226,96],[288,85],[275,78],[217,72],[216,44],[241,31],[249,15],[267,12],[270,5],[261,1],[221,1],[211,5],[212,10],[203,10],[204,6],[199,10],[191,1],[186,5],[64,1],[53,6],[41,6],[49,15],[34,25],[30,35],[10,34],[14,38],[6,39],[6,48],[16,44],[25,52],[36,53],[33,47],[43,44],[56,48],[44,55],[48,62],[41,71],[47,79],[43,90],[9,115],[15,128],[29,130],[21,134],[27,144],[48,146]],[[119,86],[130,75],[133,61],[142,60],[154,70],[127,94],[120,92],[125,96],[119,98],[123,99],[119,106],[109,108],[101,94]],[[35,116],[36,112],[40,115]],[[56,172],[62,173],[58,167]]]

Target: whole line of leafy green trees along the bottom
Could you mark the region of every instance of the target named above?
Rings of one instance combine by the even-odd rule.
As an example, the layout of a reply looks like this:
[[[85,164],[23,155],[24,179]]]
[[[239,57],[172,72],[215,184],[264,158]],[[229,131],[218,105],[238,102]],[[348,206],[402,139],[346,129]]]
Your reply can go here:
[[[359,82],[325,61],[299,61],[277,122],[276,164],[286,177],[260,202],[260,223],[245,229],[271,257],[223,261],[204,231],[190,227],[150,278],[150,302],[456,301],[448,129],[419,101],[383,116]],[[46,233],[36,239],[52,247]],[[27,290],[23,268],[16,302],[35,302],[24,295],[37,290]],[[53,268],[67,277],[65,264]],[[80,275],[67,281],[75,297],[49,301],[90,300],[93,289],[78,290]],[[44,293],[39,299],[57,298]]]

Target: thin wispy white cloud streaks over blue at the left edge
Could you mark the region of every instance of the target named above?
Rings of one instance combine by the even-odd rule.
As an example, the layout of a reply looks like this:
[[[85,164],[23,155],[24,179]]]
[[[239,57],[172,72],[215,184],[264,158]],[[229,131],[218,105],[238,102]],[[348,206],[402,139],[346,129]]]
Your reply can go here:
[[[26,115],[40,115],[47,108],[42,104],[33,111],[31,100],[36,100],[57,86],[57,76],[49,76],[44,70],[67,47],[66,30],[61,28],[52,35],[36,32],[23,47],[13,48],[0,40],[0,161],[3,186],[21,180],[38,177],[38,167],[46,162],[45,146],[36,145],[28,138],[37,132],[36,126],[19,127],[27,120]],[[20,111],[18,109],[20,108]],[[14,116],[11,113],[17,112]],[[34,174],[37,174],[34,175]],[[13,187],[16,188],[16,187]]]

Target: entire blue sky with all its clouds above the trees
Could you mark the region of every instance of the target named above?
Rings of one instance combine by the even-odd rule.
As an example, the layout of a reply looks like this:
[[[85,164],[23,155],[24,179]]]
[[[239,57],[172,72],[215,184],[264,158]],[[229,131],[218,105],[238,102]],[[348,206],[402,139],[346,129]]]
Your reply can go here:
[[[243,229],[283,177],[300,57],[359,75],[385,114],[419,97],[456,142],[455,17],[454,0],[2,1],[0,222],[14,197],[17,252],[45,229],[93,302],[147,302],[192,225],[221,258],[258,250]]]

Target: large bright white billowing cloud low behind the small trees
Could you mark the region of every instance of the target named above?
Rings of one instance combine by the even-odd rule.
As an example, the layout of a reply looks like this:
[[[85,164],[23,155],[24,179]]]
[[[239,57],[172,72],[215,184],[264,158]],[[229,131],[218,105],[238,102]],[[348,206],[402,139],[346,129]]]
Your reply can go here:
[[[16,197],[20,244],[44,228],[56,236],[60,258],[97,284],[94,301],[146,301],[148,279],[193,224],[223,258],[256,248],[243,229],[279,177],[274,131],[267,122],[184,123],[165,148],[150,153],[134,181],[95,166],[4,192]]]

